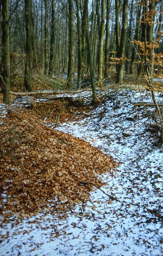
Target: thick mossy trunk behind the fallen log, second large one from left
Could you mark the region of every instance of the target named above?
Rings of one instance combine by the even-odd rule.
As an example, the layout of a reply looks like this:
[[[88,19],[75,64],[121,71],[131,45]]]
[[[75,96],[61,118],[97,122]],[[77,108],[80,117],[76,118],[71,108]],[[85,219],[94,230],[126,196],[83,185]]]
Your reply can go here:
[[[31,1],[25,0],[26,17],[26,62],[24,72],[24,87],[26,91],[31,92],[31,69],[32,69],[32,18]]]

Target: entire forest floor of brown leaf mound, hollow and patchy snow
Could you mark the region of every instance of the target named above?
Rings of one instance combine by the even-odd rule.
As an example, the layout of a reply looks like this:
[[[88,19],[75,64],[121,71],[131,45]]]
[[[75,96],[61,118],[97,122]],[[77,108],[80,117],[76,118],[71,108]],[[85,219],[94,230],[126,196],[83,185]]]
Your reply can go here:
[[[65,96],[0,104],[0,255],[163,255],[163,147],[137,85]]]

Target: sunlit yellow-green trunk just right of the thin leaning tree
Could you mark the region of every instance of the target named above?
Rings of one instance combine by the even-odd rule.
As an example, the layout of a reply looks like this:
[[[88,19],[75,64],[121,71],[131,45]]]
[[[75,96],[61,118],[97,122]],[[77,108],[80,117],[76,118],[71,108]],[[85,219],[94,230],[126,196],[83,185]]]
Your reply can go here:
[[[105,19],[105,0],[101,0],[101,23],[99,31],[99,50],[98,50],[98,81],[103,78],[103,37]],[[100,83],[101,84],[101,83]]]

